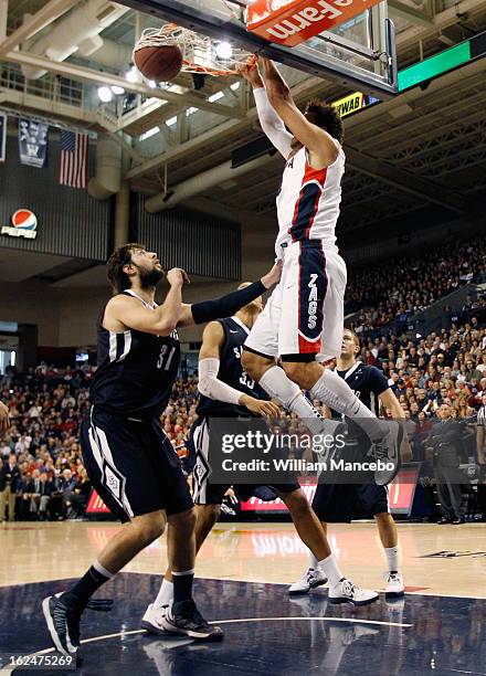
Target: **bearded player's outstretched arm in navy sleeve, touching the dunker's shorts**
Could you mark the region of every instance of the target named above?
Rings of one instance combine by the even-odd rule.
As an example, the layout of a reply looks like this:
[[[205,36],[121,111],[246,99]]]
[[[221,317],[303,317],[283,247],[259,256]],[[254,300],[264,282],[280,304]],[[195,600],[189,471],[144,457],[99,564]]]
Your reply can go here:
[[[258,282],[253,282],[250,286],[214,298],[202,300],[192,305],[182,304],[182,309],[177,326],[193,326],[194,324],[205,324],[213,319],[231,317],[239,309],[264,294],[281,279],[282,262],[275,263],[272,270]]]

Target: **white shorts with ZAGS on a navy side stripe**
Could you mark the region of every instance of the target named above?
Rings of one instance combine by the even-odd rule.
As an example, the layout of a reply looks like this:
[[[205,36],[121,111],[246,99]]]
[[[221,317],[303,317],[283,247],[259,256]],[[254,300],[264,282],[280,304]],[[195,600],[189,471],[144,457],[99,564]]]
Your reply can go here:
[[[256,319],[245,347],[268,357],[315,355],[328,361],[341,351],[346,263],[320,240],[290,243],[282,279]]]

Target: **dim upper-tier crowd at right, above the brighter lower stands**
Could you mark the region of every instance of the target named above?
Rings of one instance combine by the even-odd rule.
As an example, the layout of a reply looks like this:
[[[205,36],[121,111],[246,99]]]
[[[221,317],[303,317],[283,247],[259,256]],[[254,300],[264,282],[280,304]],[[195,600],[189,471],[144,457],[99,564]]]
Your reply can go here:
[[[486,236],[447,240],[420,256],[404,255],[381,265],[351,268],[346,314],[363,310],[359,326],[376,329],[406,320],[459,286],[486,275]]]

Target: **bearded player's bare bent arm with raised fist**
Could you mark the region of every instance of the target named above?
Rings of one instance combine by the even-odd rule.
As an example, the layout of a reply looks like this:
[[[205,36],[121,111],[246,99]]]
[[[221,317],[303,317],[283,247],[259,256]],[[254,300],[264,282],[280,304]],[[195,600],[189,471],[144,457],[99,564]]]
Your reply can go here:
[[[169,293],[162,305],[149,308],[140,300],[126,295],[118,295],[109,300],[105,309],[103,324],[108,330],[120,331],[128,327],[156,336],[170,336],[177,326],[182,309],[182,285],[189,282],[183,270],[175,267],[167,273],[170,284]]]

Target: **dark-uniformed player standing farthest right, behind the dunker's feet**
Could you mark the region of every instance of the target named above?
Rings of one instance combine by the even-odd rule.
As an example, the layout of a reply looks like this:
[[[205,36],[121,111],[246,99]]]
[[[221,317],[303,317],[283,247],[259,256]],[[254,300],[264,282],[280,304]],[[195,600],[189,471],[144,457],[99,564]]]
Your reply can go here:
[[[363,405],[374,411],[377,415],[381,404],[393,419],[404,419],[405,414],[400,402],[383,373],[377,367],[366,366],[361,361],[357,361],[359,353],[360,345],[357,335],[350,329],[345,329],[341,353],[336,367],[338,377],[342,378]],[[335,416],[339,416],[336,412],[332,413]],[[358,458],[369,446],[368,437],[352,421],[348,421],[348,423],[347,447],[348,450],[355,447]],[[408,447],[408,454],[410,455],[410,447]],[[328,522],[349,524],[353,518],[374,517],[388,563],[385,596],[403,595],[404,585],[399,559],[399,538],[397,526],[388,507],[388,488],[385,486],[377,486],[372,474],[368,477],[368,483],[364,484],[319,483],[314,496],[313,509],[318,516],[325,532],[327,532]],[[308,570],[298,582],[289,588],[290,594],[307,593],[325,578],[325,572],[311,552],[309,552],[309,559]]]

